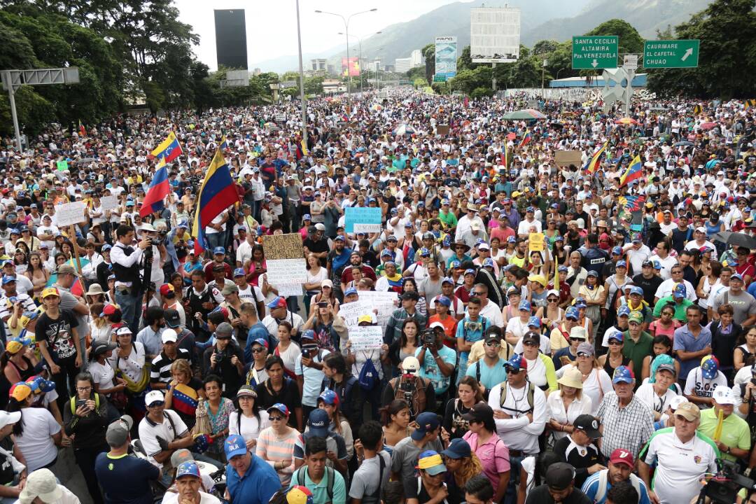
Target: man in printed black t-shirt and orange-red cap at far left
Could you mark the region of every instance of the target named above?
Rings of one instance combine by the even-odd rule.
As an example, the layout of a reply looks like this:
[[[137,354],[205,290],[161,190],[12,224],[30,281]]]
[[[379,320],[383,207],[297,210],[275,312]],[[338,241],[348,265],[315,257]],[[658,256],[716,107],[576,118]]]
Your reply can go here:
[[[72,311],[60,310],[60,293],[55,287],[42,291],[42,302],[45,303],[45,313],[37,319],[34,332],[58,391],[58,407],[63,411],[70,397],[67,391],[72,394],[76,391],[74,379],[82,367],[82,348],[76,329],[78,321]]]

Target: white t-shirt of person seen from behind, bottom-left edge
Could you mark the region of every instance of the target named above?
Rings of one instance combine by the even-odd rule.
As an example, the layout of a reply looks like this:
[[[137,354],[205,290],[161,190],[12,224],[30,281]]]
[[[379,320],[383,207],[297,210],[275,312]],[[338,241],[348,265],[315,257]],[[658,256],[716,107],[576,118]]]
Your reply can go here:
[[[26,459],[29,472],[48,465],[57,457],[52,436],[60,432],[52,413],[42,408],[23,408],[23,434],[16,436],[16,445]]]

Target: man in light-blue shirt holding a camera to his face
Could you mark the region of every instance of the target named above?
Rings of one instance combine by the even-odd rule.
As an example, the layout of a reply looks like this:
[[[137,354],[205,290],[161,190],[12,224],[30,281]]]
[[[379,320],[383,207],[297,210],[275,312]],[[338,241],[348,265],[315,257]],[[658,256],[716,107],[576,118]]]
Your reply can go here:
[[[420,362],[420,377],[428,379],[435,391],[436,404],[446,404],[446,394],[451,383],[451,375],[457,365],[457,352],[443,343],[444,326],[434,322],[422,332],[423,346],[415,352]]]

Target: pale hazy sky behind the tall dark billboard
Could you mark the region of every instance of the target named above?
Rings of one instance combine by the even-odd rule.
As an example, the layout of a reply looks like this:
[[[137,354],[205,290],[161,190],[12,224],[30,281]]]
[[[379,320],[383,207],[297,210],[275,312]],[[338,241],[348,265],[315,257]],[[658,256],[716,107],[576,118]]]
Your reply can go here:
[[[302,52],[325,51],[345,43],[344,36],[338,35],[344,31],[342,20],[336,16],[315,14],[316,9],[348,17],[355,12],[377,8],[376,12],[353,17],[349,23],[350,36],[367,36],[390,24],[413,20],[453,2],[454,0],[299,0]],[[180,11],[181,22],[194,26],[194,32],[200,36],[200,45],[194,48],[194,52],[211,70],[217,67],[213,9],[245,10],[249,63],[297,53],[295,0],[175,0],[175,3]],[[307,63],[305,61],[305,65]]]

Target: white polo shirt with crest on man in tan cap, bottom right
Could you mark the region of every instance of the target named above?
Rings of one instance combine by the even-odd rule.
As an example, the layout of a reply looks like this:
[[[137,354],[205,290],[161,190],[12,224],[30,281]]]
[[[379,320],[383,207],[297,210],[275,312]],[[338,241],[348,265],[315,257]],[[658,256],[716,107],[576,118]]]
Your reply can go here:
[[[674,427],[668,427],[651,436],[640,456],[646,464],[656,462],[652,490],[662,504],[672,504],[690,502],[699,494],[699,479],[706,472],[717,472],[718,452],[713,441],[703,434],[696,432],[690,441],[683,443]]]

